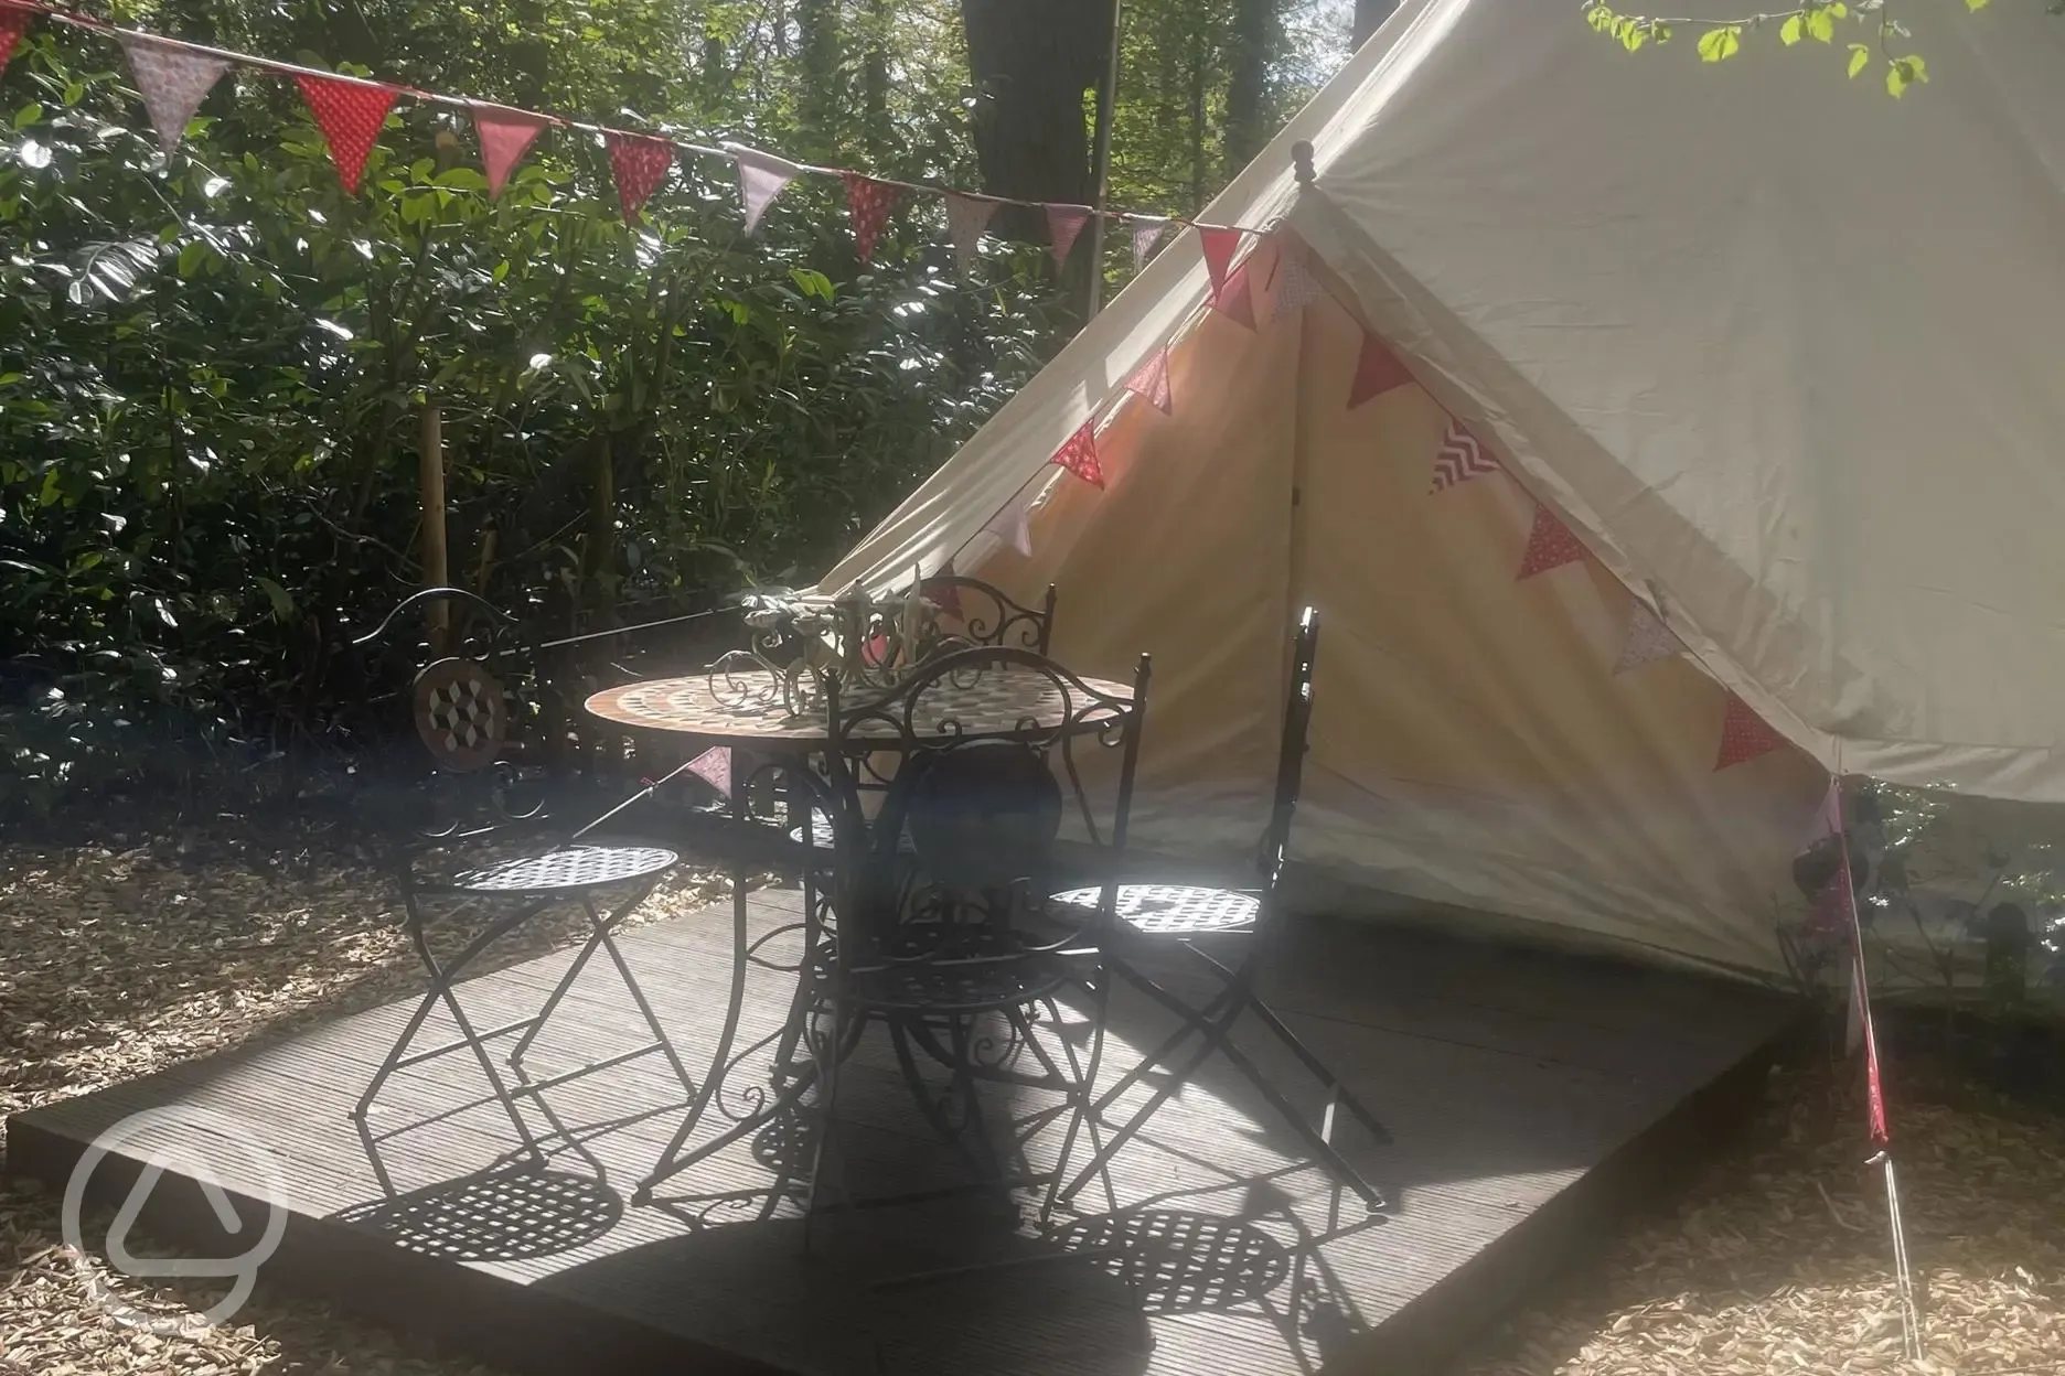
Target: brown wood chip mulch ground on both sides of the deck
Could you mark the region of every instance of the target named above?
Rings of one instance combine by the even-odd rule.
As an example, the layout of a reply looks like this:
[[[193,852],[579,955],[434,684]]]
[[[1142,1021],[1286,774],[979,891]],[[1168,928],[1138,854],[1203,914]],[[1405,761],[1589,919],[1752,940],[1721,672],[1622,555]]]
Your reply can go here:
[[[717,893],[710,875],[684,873],[646,916]],[[539,926],[533,951],[566,937]],[[390,893],[363,864],[0,846],[0,1118],[415,988]],[[1776,1075],[1739,1151],[1540,1296],[1468,1376],[1914,1370],[1900,1359],[1883,1194],[1863,1170],[1846,1081]],[[1894,1108],[1929,1289],[1920,1370],[2065,1372],[2065,1122],[1920,1089],[1906,1085]],[[215,1298],[105,1279],[165,1314]],[[120,1326],[64,1250],[56,1197],[19,1184],[0,1186],[0,1376],[17,1372],[494,1376],[264,1285],[217,1329]]]

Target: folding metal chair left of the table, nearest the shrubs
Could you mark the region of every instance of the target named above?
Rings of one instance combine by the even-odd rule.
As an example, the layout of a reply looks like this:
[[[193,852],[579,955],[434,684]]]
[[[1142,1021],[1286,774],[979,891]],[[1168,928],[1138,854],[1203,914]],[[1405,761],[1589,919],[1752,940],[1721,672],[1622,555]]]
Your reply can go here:
[[[423,633],[413,646],[399,646],[399,627],[413,625],[421,625]],[[589,1056],[586,1069],[551,1077],[547,1083],[564,1083],[574,1075],[661,1052],[681,1081],[684,1093],[692,1097],[688,1069],[613,939],[613,928],[644,902],[677,864],[679,854],[667,846],[589,840],[597,825],[620,809],[580,827],[555,821],[553,792],[539,782],[539,769],[535,765],[527,769],[522,759],[522,728],[537,718],[535,701],[541,685],[518,623],[460,588],[427,588],[405,598],[374,631],[351,644],[368,668],[368,687],[384,677],[382,670],[394,668],[396,650],[403,650],[403,658],[419,660],[403,697],[421,753],[409,745],[401,747],[401,755],[413,755],[419,765],[396,759],[386,739],[392,732],[382,730],[378,722],[370,726],[366,741],[374,755],[363,767],[363,774],[372,776],[372,788],[361,800],[363,811],[384,833],[401,889],[403,924],[430,984],[351,1112],[368,1147],[411,1126],[372,1135],[366,1122],[374,1100],[399,1069],[471,1052],[514,1126],[525,1155],[543,1166],[545,1151],[516,1100],[537,1102],[555,1135],[568,1141],[572,1137],[545,1102],[543,1087],[531,1081],[525,1054],[597,953],[615,965],[653,1040],[607,1060]],[[417,654],[409,656],[409,648]],[[512,683],[518,691],[510,689]],[[378,706],[394,697],[390,693],[370,701]],[[607,889],[620,893],[609,912],[603,912],[597,899]],[[434,914],[430,904],[442,902],[514,904],[514,908],[491,918],[456,955],[440,959],[432,949],[432,930],[450,914]],[[465,970],[496,941],[560,904],[576,904],[586,914],[589,926],[586,941],[566,974],[533,1017],[489,1029],[475,1027],[456,994]],[[456,1023],[458,1040],[411,1052],[425,1019],[440,1005]],[[516,1040],[506,1062],[516,1075],[516,1085],[496,1069],[487,1046],[512,1034]],[[593,1164],[593,1157],[589,1159]],[[374,1168],[384,1180],[386,1170],[378,1153]]]

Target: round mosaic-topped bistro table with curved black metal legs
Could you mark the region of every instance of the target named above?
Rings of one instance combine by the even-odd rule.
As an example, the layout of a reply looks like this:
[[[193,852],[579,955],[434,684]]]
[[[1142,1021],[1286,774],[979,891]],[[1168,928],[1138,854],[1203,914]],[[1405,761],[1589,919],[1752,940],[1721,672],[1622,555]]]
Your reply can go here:
[[[1115,697],[1132,699],[1132,689],[1105,679],[1082,679],[1084,687]],[[1032,670],[1010,666],[989,668],[966,683],[942,681],[927,697],[929,720],[940,724],[938,739],[1028,739],[1049,736],[1068,724],[1070,712],[1055,681]],[[634,732],[663,732],[686,736],[698,745],[723,745],[733,751],[731,767],[731,817],[739,823],[752,821],[752,786],[756,778],[791,769],[812,769],[812,759],[830,745],[830,718],[824,708],[791,714],[774,675],[762,668],[712,668],[704,675],[681,679],[650,679],[595,693],[586,701],[589,714]],[[1080,730],[1097,730],[1097,724]],[[927,736],[898,734],[888,722],[857,722],[851,739],[880,734],[884,751],[902,751],[925,745]],[[851,741],[849,741],[851,745]],[[741,767],[741,755],[760,759],[756,767]],[[801,838],[805,854],[812,854],[816,840],[816,819],[805,788],[783,788],[791,836]],[[653,1174],[640,1182],[632,1203],[653,1203],[653,1190],[684,1170],[708,1159],[739,1139],[774,1122],[787,1114],[809,1089],[814,1073],[809,1062],[795,1060],[797,1040],[809,1017],[809,984],[816,961],[832,959],[834,943],[826,932],[832,918],[828,912],[830,893],[818,885],[818,866],[803,864],[803,922],[762,932],[758,939],[750,928],[745,895],[748,873],[739,866],[731,887],[731,992],[725,1009],[725,1025],[710,1056],[710,1069],[698,1087],[688,1116],[661,1153]],[[776,963],[762,955],[762,949],[785,932],[801,930],[803,951],[795,965]],[[776,1031],[762,1036],[745,1048],[735,1050],[739,1019],[745,1009],[748,972],[760,965],[774,972],[795,974],[795,994],[789,1015]],[[725,1100],[725,1079],[739,1071],[752,1056],[774,1046],[766,1071],[756,1075],[752,1087],[737,1095],[739,1108]],[[762,1089],[762,1081],[774,1091]],[[706,1114],[714,1108],[725,1126],[710,1139],[684,1151],[696,1137]],[[733,1190],[727,1194],[696,1197],[698,1203],[719,1205],[723,1201],[743,1203],[758,1197],[758,1190]],[[779,1205],[781,1190],[770,1192],[764,1213]]]

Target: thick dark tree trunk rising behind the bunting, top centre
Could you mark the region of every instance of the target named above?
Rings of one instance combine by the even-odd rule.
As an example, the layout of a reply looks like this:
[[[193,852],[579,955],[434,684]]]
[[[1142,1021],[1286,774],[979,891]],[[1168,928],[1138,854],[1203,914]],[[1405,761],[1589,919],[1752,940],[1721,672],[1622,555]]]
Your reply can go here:
[[[1084,95],[1105,76],[1111,0],[960,0],[975,85],[975,157],[983,190],[1020,200],[1090,204]],[[1006,206],[997,233],[1047,237],[1039,210]]]

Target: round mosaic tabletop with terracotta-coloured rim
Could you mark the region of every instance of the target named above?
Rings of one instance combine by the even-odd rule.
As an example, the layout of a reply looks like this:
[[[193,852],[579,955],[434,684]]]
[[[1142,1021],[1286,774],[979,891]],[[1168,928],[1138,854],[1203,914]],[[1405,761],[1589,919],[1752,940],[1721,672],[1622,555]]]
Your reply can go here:
[[[1127,685],[1107,679],[1082,683],[1090,693],[1125,703],[1134,695]],[[776,697],[774,677],[760,668],[626,683],[597,693],[586,706],[593,716],[617,726],[673,730],[706,741],[822,745],[828,734],[822,708],[789,716]],[[919,739],[931,730],[935,739],[1047,734],[1063,724],[1070,710],[1080,716],[1088,706],[1082,697],[1063,701],[1061,687],[1043,673],[991,666],[968,683],[942,679],[927,687],[913,730]],[[1099,714],[1097,720],[1078,722],[1078,730],[1090,732],[1109,720],[1109,714]],[[853,734],[896,739],[894,726],[873,720],[855,724]]]

